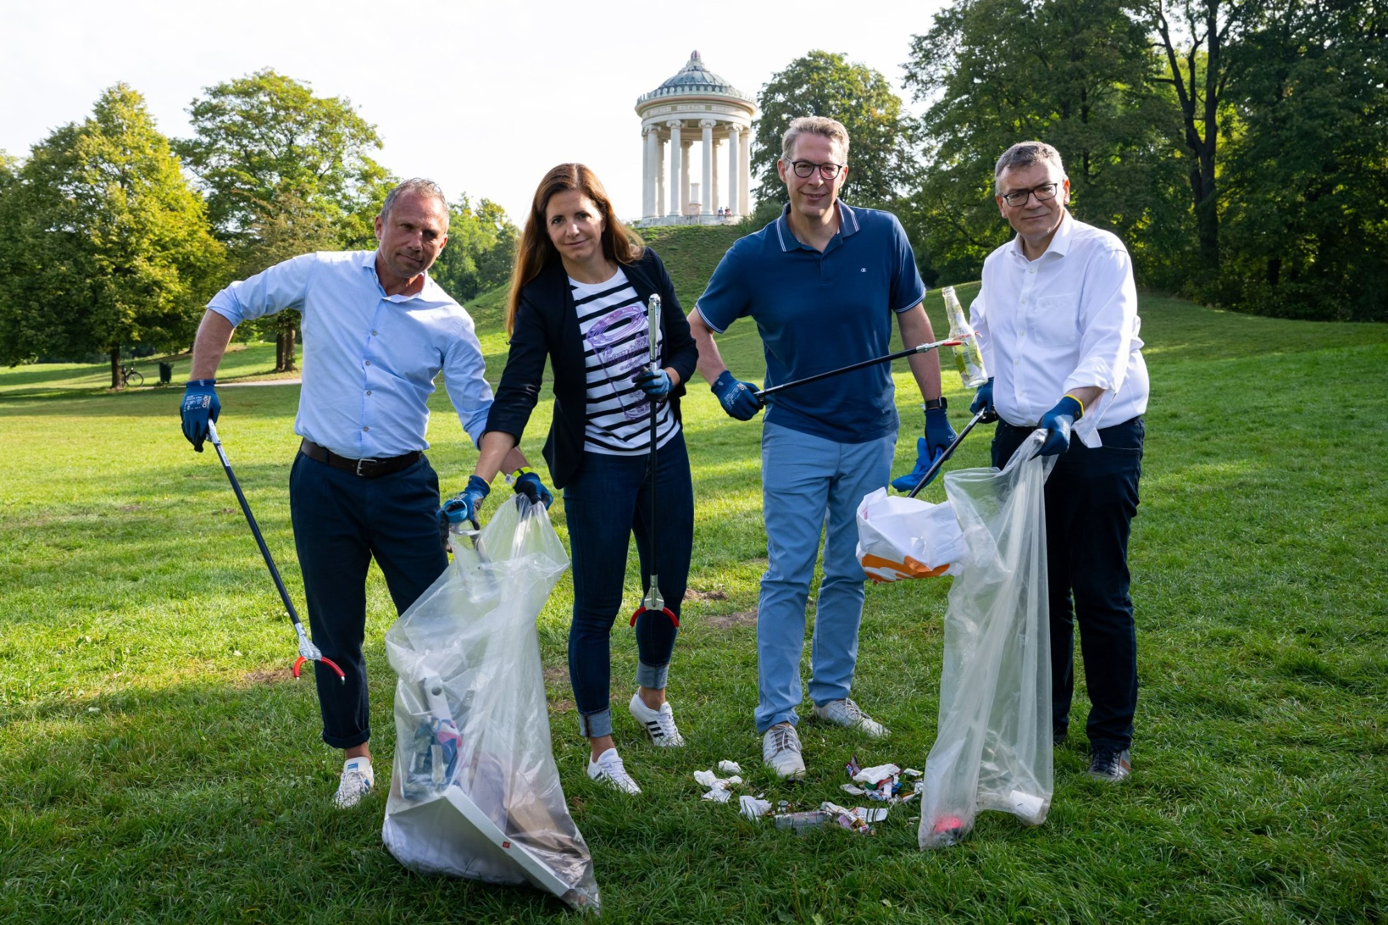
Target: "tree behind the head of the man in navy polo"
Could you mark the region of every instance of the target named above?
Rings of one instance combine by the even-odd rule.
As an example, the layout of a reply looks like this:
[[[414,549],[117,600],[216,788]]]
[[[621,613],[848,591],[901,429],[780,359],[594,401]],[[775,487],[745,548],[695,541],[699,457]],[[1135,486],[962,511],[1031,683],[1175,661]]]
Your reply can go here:
[[[811,51],[772,75],[756,97],[761,117],[752,125],[752,172],[762,203],[788,201],[776,174],[781,135],[799,115],[827,115],[848,129],[848,178],[843,197],[862,206],[887,206],[915,172],[915,128],[902,117],[901,97],[879,71],[843,54]]]

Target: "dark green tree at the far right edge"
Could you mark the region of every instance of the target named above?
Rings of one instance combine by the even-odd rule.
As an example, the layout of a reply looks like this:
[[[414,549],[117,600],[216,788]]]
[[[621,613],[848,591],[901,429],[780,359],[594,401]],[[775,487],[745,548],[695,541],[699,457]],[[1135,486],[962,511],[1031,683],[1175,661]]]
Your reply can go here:
[[[1224,300],[1388,321],[1388,7],[1269,4],[1227,97]]]

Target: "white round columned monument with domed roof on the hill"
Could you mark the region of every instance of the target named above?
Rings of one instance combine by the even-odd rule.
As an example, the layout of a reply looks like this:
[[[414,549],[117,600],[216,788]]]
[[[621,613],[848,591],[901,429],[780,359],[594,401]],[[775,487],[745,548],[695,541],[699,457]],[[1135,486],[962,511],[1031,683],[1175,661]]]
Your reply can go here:
[[[637,225],[722,225],[748,212],[756,101],[706,67],[698,51],[679,74],[636,100],[645,139]],[[690,182],[695,133],[704,182]],[[726,179],[718,169],[727,149]],[[665,151],[669,149],[669,169]]]

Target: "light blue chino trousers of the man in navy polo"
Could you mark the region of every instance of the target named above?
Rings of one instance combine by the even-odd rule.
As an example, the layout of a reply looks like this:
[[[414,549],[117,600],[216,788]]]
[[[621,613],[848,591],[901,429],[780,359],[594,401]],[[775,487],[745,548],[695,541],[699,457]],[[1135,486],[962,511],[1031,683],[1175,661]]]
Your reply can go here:
[[[867,575],[855,554],[858,504],[887,485],[897,436],[837,443],[776,424],[762,428],[766,574],[756,607],[756,731],[798,722],[805,604],[824,538],[811,643],[809,697],[841,700],[854,683]]]

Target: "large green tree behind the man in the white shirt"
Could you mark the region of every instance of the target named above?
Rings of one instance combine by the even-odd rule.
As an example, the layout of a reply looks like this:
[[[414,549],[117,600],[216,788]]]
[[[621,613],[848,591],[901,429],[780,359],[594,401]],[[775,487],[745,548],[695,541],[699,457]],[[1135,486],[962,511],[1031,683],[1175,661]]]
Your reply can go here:
[[[1073,211],[1145,246],[1183,247],[1149,39],[1123,0],[960,0],[912,39],[906,86],[930,101],[926,176],[901,208],[924,258],[949,279],[977,275],[1009,229],[992,201],[994,164],[1038,139],[1065,157]],[[1151,256],[1151,254],[1149,254]],[[1158,264],[1140,267],[1159,276]]]

